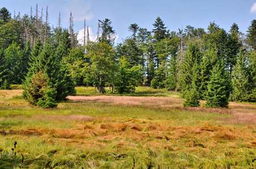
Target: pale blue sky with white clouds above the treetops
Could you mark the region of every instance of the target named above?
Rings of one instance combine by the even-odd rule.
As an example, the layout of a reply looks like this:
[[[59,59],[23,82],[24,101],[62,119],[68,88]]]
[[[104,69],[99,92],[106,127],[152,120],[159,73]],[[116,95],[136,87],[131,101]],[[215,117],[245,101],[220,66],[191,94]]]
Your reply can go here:
[[[89,26],[90,38],[97,32],[98,20],[110,19],[117,34],[117,43],[130,36],[130,24],[138,24],[140,28],[153,29],[153,23],[159,16],[167,29],[178,32],[186,25],[207,29],[210,22],[215,21],[227,32],[233,23],[238,25],[242,33],[246,33],[253,19],[256,19],[256,0],[1,0],[0,8],[6,7],[12,17],[36,14],[43,8],[45,15],[48,7],[50,25],[58,25],[61,12],[61,25],[69,28],[70,12],[74,18],[74,30],[82,38],[84,19]],[[41,14],[40,14],[41,15]]]

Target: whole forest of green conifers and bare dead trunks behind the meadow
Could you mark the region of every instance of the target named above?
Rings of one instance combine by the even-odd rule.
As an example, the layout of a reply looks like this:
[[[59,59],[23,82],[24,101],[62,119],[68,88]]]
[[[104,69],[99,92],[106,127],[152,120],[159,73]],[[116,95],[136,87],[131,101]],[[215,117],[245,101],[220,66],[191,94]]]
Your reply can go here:
[[[35,15],[33,15],[35,14]],[[229,101],[256,101],[256,20],[246,33],[234,23],[230,30],[214,21],[207,30],[191,25],[177,32],[157,17],[153,29],[136,23],[131,35],[115,44],[116,30],[110,19],[99,20],[96,41],[89,39],[84,20],[83,39],[50,26],[48,9],[31,7],[31,15],[0,10],[0,88],[23,84],[23,97],[33,105],[49,108],[75,86],[94,86],[95,91],[127,94],[138,85],[178,91],[184,106],[228,107]]]

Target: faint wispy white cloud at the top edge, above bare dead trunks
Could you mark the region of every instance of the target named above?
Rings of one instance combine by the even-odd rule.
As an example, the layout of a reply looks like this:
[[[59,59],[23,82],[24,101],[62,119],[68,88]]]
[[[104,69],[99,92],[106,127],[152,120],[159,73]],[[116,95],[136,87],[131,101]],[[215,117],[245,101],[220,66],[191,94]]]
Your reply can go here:
[[[71,0],[65,4],[64,11],[67,16],[70,16],[70,12],[72,12],[74,21],[83,21],[84,19],[91,20],[93,17],[92,12],[89,12],[91,7],[92,5],[90,2]],[[69,19],[69,17],[67,19]]]

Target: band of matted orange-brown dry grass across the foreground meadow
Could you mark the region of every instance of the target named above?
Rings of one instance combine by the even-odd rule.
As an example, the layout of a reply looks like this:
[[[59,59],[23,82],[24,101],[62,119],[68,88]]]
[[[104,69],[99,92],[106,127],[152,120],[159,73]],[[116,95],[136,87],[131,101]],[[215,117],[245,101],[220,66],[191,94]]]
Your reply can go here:
[[[55,117],[56,118],[56,117]],[[61,119],[60,117],[59,119]],[[76,118],[74,118],[76,119]],[[29,137],[31,135],[53,137],[56,139],[67,139],[67,144],[80,143],[83,146],[91,146],[92,141],[97,144],[117,144],[118,148],[134,146],[134,143],[144,143],[150,146],[169,144],[181,144],[182,146],[212,148],[216,144],[228,141],[236,144],[241,141],[249,146],[256,146],[256,134],[253,132],[255,126],[246,126],[237,130],[231,126],[212,126],[204,124],[200,126],[170,126],[157,122],[122,122],[113,120],[102,122],[103,119],[94,119],[93,122],[82,122],[80,127],[73,129],[36,127],[36,128],[12,128],[2,130],[2,135],[20,135]],[[96,122],[96,123],[95,123]],[[127,138],[129,138],[127,140]],[[71,141],[71,140],[72,141]],[[99,145],[97,145],[99,146]]]

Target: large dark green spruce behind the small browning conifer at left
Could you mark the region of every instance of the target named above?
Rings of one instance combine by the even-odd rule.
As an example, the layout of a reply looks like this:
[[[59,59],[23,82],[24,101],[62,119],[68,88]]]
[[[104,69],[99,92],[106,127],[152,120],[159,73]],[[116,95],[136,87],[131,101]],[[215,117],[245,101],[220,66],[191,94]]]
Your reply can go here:
[[[32,50],[31,68],[23,82],[23,95],[27,100],[32,99],[29,96],[28,88],[33,82],[33,75],[40,71],[48,78],[47,85],[49,88],[45,90],[45,96],[38,99],[37,105],[41,107],[54,106],[55,101],[64,100],[66,96],[74,94],[74,82],[67,75],[67,68],[59,60],[61,57],[59,54],[61,53],[54,51],[49,41],[46,41],[42,50],[40,41],[36,43],[36,46]]]

